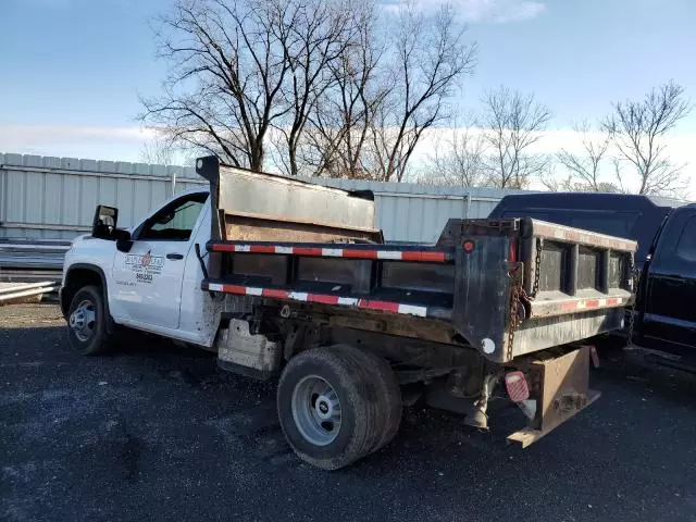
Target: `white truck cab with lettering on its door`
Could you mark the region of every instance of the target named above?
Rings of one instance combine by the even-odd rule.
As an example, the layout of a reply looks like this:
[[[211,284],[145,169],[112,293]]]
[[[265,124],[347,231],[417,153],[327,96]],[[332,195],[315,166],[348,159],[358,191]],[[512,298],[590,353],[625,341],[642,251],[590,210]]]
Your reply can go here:
[[[62,311],[73,324],[84,324],[84,339],[89,328],[111,331],[120,324],[210,346],[214,332],[201,327],[203,301],[210,296],[199,290],[202,273],[196,256],[196,245],[210,239],[208,200],[207,190],[178,194],[130,231],[104,226],[116,209],[97,209],[92,234],[78,237],[65,256],[61,288]],[[85,286],[103,294],[105,324],[89,321],[95,303],[70,310]],[[97,345],[87,344],[84,351],[92,352]]]

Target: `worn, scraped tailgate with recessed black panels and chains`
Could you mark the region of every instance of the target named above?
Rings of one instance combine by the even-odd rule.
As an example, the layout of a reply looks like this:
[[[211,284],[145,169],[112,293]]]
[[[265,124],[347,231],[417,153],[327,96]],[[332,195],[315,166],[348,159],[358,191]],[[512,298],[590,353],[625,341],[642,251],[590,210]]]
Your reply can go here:
[[[532,219],[522,220],[521,233],[511,358],[623,326],[623,307],[634,299],[635,241]]]

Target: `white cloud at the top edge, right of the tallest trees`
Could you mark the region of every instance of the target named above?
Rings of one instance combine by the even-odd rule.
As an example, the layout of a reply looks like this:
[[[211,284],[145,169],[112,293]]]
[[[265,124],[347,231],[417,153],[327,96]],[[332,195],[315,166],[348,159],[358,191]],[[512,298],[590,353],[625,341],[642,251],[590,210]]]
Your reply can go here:
[[[396,10],[407,0],[383,2],[386,9]],[[433,11],[449,4],[465,22],[520,22],[534,18],[546,11],[546,5],[535,0],[414,0],[418,9]]]

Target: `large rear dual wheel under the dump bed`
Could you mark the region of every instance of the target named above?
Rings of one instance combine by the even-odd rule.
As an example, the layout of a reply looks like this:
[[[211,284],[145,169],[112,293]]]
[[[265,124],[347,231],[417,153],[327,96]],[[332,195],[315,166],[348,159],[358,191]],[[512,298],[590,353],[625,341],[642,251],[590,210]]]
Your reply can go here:
[[[277,408],[295,452],[316,468],[337,470],[394,437],[401,397],[384,359],[337,345],[290,359],[281,375]]]

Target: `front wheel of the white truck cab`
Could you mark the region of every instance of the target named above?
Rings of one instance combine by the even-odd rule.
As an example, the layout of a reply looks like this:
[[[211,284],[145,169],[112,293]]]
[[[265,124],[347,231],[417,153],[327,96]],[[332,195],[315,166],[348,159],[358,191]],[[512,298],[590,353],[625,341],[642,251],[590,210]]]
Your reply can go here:
[[[101,288],[89,285],[75,293],[67,309],[67,336],[82,356],[109,351],[109,333]]]

